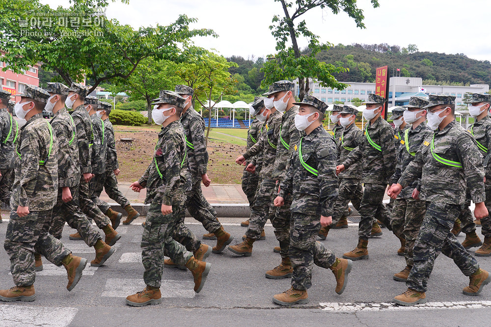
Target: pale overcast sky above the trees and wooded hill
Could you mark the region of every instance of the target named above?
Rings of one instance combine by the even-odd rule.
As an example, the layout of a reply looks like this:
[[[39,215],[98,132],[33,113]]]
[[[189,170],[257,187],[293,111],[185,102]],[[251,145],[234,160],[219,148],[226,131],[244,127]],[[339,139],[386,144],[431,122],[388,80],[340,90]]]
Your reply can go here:
[[[67,7],[68,0],[41,0],[51,7]],[[419,51],[464,53],[470,58],[491,60],[489,0],[379,0],[374,9],[369,0],[358,0],[364,10],[366,29],[357,28],[345,13],[312,9],[304,15],[307,27],[333,44],[388,43]],[[186,14],[198,19],[194,28],[212,28],[218,39],[196,38],[195,43],[216,49],[224,56],[247,58],[274,53],[275,40],[269,26],[274,14],[282,15],[273,0],[130,0],[109,4],[106,15],[134,28],[167,25]],[[306,46],[306,40],[299,40]]]

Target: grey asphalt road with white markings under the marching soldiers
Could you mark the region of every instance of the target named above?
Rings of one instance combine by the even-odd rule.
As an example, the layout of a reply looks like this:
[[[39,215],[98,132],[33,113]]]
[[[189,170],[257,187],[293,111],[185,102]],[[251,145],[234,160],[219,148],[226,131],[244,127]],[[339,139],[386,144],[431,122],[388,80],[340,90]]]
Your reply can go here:
[[[5,216],[4,216],[5,217]],[[238,218],[222,218],[225,229],[239,240],[246,228]],[[429,281],[428,303],[419,307],[400,307],[391,302],[406,290],[392,279],[401,271],[403,257],[396,254],[399,241],[382,229],[384,235],[369,242],[369,260],[355,262],[350,282],[342,295],[334,292],[335,280],[329,270],[314,266],[310,302],[296,308],[280,307],[271,300],[274,294],[290,287],[289,279],[271,280],[264,273],[277,266],[280,256],[273,227],[266,226],[267,239],[254,244],[251,257],[235,257],[226,249],[211,254],[212,269],[199,294],[192,291],[188,271],[165,269],[160,305],[136,308],[125,304],[125,297],[144,287],[139,242],[142,227],[135,224],[118,228],[122,239],[105,266],[87,268],[72,291],[66,290],[66,273],[45,258],[44,271],[36,277],[34,302],[0,303],[0,326],[489,326],[491,286],[480,296],[468,297],[462,288],[468,278],[454,263],[440,255]],[[205,231],[189,219],[189,227],[201,236]],[[0,224],[0,243],[7,223]],[[62,241],[80,256],[91,260],[93,249],[82,241],[68,240],[73,232],[65,227]],[[337,256],[356,245],[355,224],[332,230],[322,241]],[[480,230],[478,229],[478,234]],[[464,236],[458,237],[460,241]],[[215,241],[204,241],[214,245]],[[234,242],[235,244],[235,242]],[[491,258],[478,258],[484,269],[491,270]],[[0,287],[13,286],[9,260],[0,250]]]

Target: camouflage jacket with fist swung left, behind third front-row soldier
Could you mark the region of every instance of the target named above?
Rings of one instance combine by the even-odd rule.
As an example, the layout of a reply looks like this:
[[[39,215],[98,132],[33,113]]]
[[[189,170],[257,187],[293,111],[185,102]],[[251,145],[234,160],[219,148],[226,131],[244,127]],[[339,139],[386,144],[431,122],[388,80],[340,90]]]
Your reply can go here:
[[[274,157],[276,156],[276,148],[279,145],[279,129],[281,127],[282,113],[275,110],[266,124],[264,124],[263,134],[259,137],[256,144],[254,144],[244,154],[244,158],[248,160],[258,154],[262,153],[263,167],[261,168],[262,178],[273,178],[274,170]]]

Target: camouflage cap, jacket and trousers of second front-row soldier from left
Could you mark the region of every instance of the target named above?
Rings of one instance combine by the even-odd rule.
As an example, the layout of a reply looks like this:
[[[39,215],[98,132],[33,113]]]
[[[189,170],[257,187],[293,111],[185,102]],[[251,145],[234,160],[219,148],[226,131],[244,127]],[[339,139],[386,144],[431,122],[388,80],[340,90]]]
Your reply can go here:
[[[160,97],[157,103],[184,107],[185,100],[175,92],[161,92]],[[150,203],[140,245],[145,268],[143,280],[148,286],[161,286],[164,250],[177,265],[184,266],[192,257],[191,252],[172,239],[179,211],[186,200],[185,184],[188,176],[185,155],[184,129],[179,121],[174,121],[162,128],[155,146],[154,159],[138,180],[142,187],[147,188],[145,203]],[[172,213],[164,216],[161,212],[162,204],[172,206]]]

